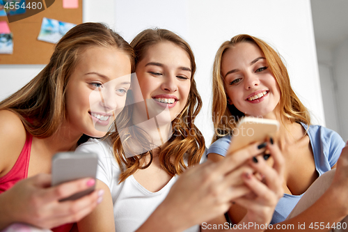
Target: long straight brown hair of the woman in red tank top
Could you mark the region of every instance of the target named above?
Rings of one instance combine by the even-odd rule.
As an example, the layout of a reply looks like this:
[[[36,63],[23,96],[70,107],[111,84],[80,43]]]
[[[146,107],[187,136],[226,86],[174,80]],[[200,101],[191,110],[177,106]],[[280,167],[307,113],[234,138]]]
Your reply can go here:
[[[35,137],[49,137],[66,118],[65,90],[69,77],[89,46],[116,47],[129,56],[134,67],[132,47],[116,32],[100,23],[74,26],[61,38],[49,63],[31,82],[0,102],[0,109],[13,111],[25,129]]]

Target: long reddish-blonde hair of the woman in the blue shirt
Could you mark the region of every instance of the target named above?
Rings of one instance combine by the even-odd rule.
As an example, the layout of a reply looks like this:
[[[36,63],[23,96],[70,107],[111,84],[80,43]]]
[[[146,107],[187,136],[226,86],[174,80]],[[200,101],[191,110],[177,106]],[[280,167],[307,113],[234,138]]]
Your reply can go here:
[[[269,69],[274,75],[280,88],[280,113],[288,118],[292,123],[302,122],[310,125],[310,114],[296,96],[290,86],[290,78],[287,69],[281,59],[280,54],[276,52],[267,42],[249,35],[238,35],[230,41],[223,42],[216,52],[213,67],[213,103],[212,103],[212,121],[214,124],[214,137],[212,143],[231,134],[235,129],[239,118],[244,114],[239,111],[235,105],[227,104],[227,92],[224,85],[223,75],[221,73],[221,59],[226,50],[235,47],[239,42],[250,42],[258,46],[264,54]],[[283,120],[283,118],[282,118]]]

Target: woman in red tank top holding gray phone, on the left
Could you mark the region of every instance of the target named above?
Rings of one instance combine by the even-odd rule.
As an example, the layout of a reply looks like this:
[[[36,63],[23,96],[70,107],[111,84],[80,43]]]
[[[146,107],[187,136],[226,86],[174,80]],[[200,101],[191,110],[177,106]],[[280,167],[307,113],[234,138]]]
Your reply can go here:
[[[57,152],[74,150],[84,134],[106,134],[113,118],[95,116],[125,105],[133,63],[132,47],[117,33],[104,24],[79,24],[61,38],[31,82],[0,102],[0,230],[22,222],[70,231],[71,222],[102,201],[102,190],[58,201],[95,180],[50,187],[51,160]],[[99,90],[97,98],[91,98],[93,90]]]

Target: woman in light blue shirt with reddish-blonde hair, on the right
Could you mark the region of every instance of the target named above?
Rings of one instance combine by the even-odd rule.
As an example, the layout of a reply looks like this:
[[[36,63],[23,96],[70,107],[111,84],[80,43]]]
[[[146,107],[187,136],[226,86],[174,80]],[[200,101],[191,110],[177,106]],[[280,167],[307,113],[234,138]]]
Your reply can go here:
[[[223,42],[214,61],[212,111],[215,134],[208,159],[214,161],[222,160],[226,155],[232,131],[243,116],[280,122],[276,141],[285,158],[285,193],[276,206],[271,224],[292,224],[295,229],[299,224],[310,226],[312,222],[331,226],[347,215],[346,200],[342,192],[337,192],[347,192],[343,185],[347,176],[341,165],[336,171],[340,175],[334,177],[332,185],[327,185],[327,190],[315,185],[315,192],[321,192],[322,196],[310,197],[315,199],[313,205],[287,219],[310,185],[336,167],[345,143],[336,132],[310,125],[310,114],[292,90],[280,55],[267,42],[248,35],[238,35]],[[341,162],[346,159],[345,155]],[[331,179],[333,176],[334,172]],[[236,204],[230,208],[229,215],[232,222],[237,223],[246,212]]]

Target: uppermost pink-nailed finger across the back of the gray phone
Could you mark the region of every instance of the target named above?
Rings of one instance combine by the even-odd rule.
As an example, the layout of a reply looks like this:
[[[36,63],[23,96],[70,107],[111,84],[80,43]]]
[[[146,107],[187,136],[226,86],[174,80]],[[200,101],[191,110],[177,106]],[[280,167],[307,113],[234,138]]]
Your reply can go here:
[[[95,185],[95,179],[82,178],[79,180],[73,180],[67,183],[63,183],[54,187],[49,187],[45,192],[42,192],[42,200],[58,201],[64,199],[72,194],[87,190]]]

